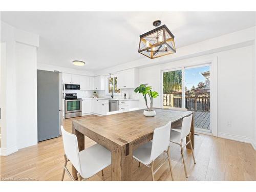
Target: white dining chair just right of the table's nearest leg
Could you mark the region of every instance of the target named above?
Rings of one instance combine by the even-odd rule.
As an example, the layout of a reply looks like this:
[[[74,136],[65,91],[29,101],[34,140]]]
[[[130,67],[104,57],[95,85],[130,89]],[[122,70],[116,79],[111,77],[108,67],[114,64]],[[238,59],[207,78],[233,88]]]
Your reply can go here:
[[[133,152],[134,159],[136,159],[137,161],[139,161],[139,163],[142,163],[151,169],[153,181],[155,181],[155,173],[167,160],[169,162],[170,176],[172,177],[172,180],[174,180],[172,173],[172,165],[170,164],[169,157],[170,125],[171,122],[168,122],[166,125],[156,128],[154,130],[153,140],[138,147]],[[162,153],[166,153],[167,158],[165,158],[165,160],[154,171],[154,162],[156,158],[159,157]]]

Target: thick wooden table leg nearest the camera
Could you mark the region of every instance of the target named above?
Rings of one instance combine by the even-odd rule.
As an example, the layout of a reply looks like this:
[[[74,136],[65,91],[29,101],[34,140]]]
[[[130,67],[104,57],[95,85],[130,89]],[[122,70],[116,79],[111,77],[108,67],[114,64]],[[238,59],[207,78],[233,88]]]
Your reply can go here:
[[[111,153],[111,180],[132,180],[133,150],[132,144],[127,143]]]

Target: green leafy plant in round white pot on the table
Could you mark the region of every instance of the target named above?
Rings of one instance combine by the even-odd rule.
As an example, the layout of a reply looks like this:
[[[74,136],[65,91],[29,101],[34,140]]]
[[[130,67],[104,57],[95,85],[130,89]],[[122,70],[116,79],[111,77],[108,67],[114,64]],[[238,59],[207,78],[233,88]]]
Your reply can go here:
[[[141,93],[144,97],[146,110],[144,110],[143,114],[147,117],[156,116],[156,111],[152,110],[153,108],[153,98],[157,98],[158,93],[156,91],[152,91],[151,86],[147,86],[147,84],[141,84],[134,90],[135,93]],[[150,97],[150,106],[147,104],[147,96]]]

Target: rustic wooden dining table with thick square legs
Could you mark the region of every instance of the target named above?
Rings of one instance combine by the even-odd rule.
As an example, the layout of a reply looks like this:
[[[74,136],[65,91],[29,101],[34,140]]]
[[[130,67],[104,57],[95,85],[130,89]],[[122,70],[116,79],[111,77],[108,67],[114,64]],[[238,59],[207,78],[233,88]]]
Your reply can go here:
[[[155,117],[145,117],[143,110],[137,110],[74,120],[72,132],[77,136],[79,151],[84,150],[84,136],[89,137],[111,152],[112,181],[131,181],[133,150],[152,140],[154,129],[169,121],[172,121],[172,129],[180,129],[182,119],[190,114],[193,114],[190,132],[194,148],[194,112],[154,110]],[[73,177],[77,179],[74,166]]]

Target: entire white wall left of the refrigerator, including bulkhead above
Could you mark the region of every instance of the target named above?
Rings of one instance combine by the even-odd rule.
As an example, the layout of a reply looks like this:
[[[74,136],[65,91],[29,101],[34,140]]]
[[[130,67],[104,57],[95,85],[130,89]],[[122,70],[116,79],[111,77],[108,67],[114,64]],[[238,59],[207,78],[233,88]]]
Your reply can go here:
[[[0,99],[5,103],[2,111],[5,123],[2,123],[0,154],[9,155],[37,143],[36,47],[39,36],[1,22],[2,43],[6,45],[6,62],[1,62],[1,69],[5,70],[1,70]]]

